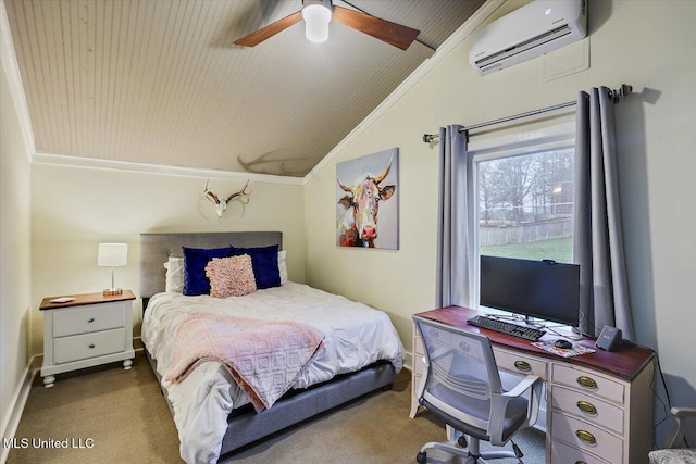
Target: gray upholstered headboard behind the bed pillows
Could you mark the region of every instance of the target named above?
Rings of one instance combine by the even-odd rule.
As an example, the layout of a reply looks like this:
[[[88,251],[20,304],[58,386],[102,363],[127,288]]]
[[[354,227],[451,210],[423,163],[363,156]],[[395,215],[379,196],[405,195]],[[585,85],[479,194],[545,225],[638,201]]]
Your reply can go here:
[[[281,231],[140,234],[140,297],[142,308],[154,293],[164,291],[164,263],[169,256],[183,256],[182,247],[268,247],[283,249]]]

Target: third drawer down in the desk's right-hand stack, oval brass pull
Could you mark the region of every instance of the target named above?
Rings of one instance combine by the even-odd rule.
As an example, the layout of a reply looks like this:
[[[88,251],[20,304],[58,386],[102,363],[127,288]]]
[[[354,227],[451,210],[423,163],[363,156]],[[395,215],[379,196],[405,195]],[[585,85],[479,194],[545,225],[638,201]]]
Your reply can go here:
[[[551,437],[602,456],[611,463],[623,462],[623,440],[595,425],[554,411]]]

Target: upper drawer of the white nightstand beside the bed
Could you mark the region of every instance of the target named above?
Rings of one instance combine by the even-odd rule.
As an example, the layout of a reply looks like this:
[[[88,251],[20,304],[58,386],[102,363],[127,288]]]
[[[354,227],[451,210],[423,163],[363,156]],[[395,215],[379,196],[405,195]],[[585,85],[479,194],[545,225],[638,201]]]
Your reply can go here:
[[[53,314],[53,337],[124,327],[123,303],[88,304]]]

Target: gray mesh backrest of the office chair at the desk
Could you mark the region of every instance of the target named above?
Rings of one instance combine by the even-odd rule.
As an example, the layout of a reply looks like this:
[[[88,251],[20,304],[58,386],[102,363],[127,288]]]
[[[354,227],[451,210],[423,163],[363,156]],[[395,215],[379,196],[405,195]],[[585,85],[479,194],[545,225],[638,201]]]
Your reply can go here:
[[[452,417],[486,429],[490,398],[502,393],[488,337],[420,316],[413,321],[428,366],[419,398]]]

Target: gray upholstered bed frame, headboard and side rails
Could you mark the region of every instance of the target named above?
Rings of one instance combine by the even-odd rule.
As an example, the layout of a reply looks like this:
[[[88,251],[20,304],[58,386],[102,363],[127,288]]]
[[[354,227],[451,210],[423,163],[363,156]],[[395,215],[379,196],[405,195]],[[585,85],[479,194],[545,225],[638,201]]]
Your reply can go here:
[[[182,247],[219,248],[235,247],[283,247],[283,233],[175,233],[140,235],[140,297],[142,312],[156,293],[164,291],[165,269],[163,263],[169,256],[182,256]],[[145,355],[158,381],[157,360],[145,347]],[[261,438],[273,435],[291,425],[362,397],[377,389],[389,390],[394,383],[395,369],[389,362],[372,364],[352,374],[339,376],[324,384],[304,390],[294,390],[278,400],[273,407],[256,413],[252,407],[233,411],[227,418],[227,431],[222,440],[220,455],[229,453]],[[162,390],[170,411],[172,404]]]

